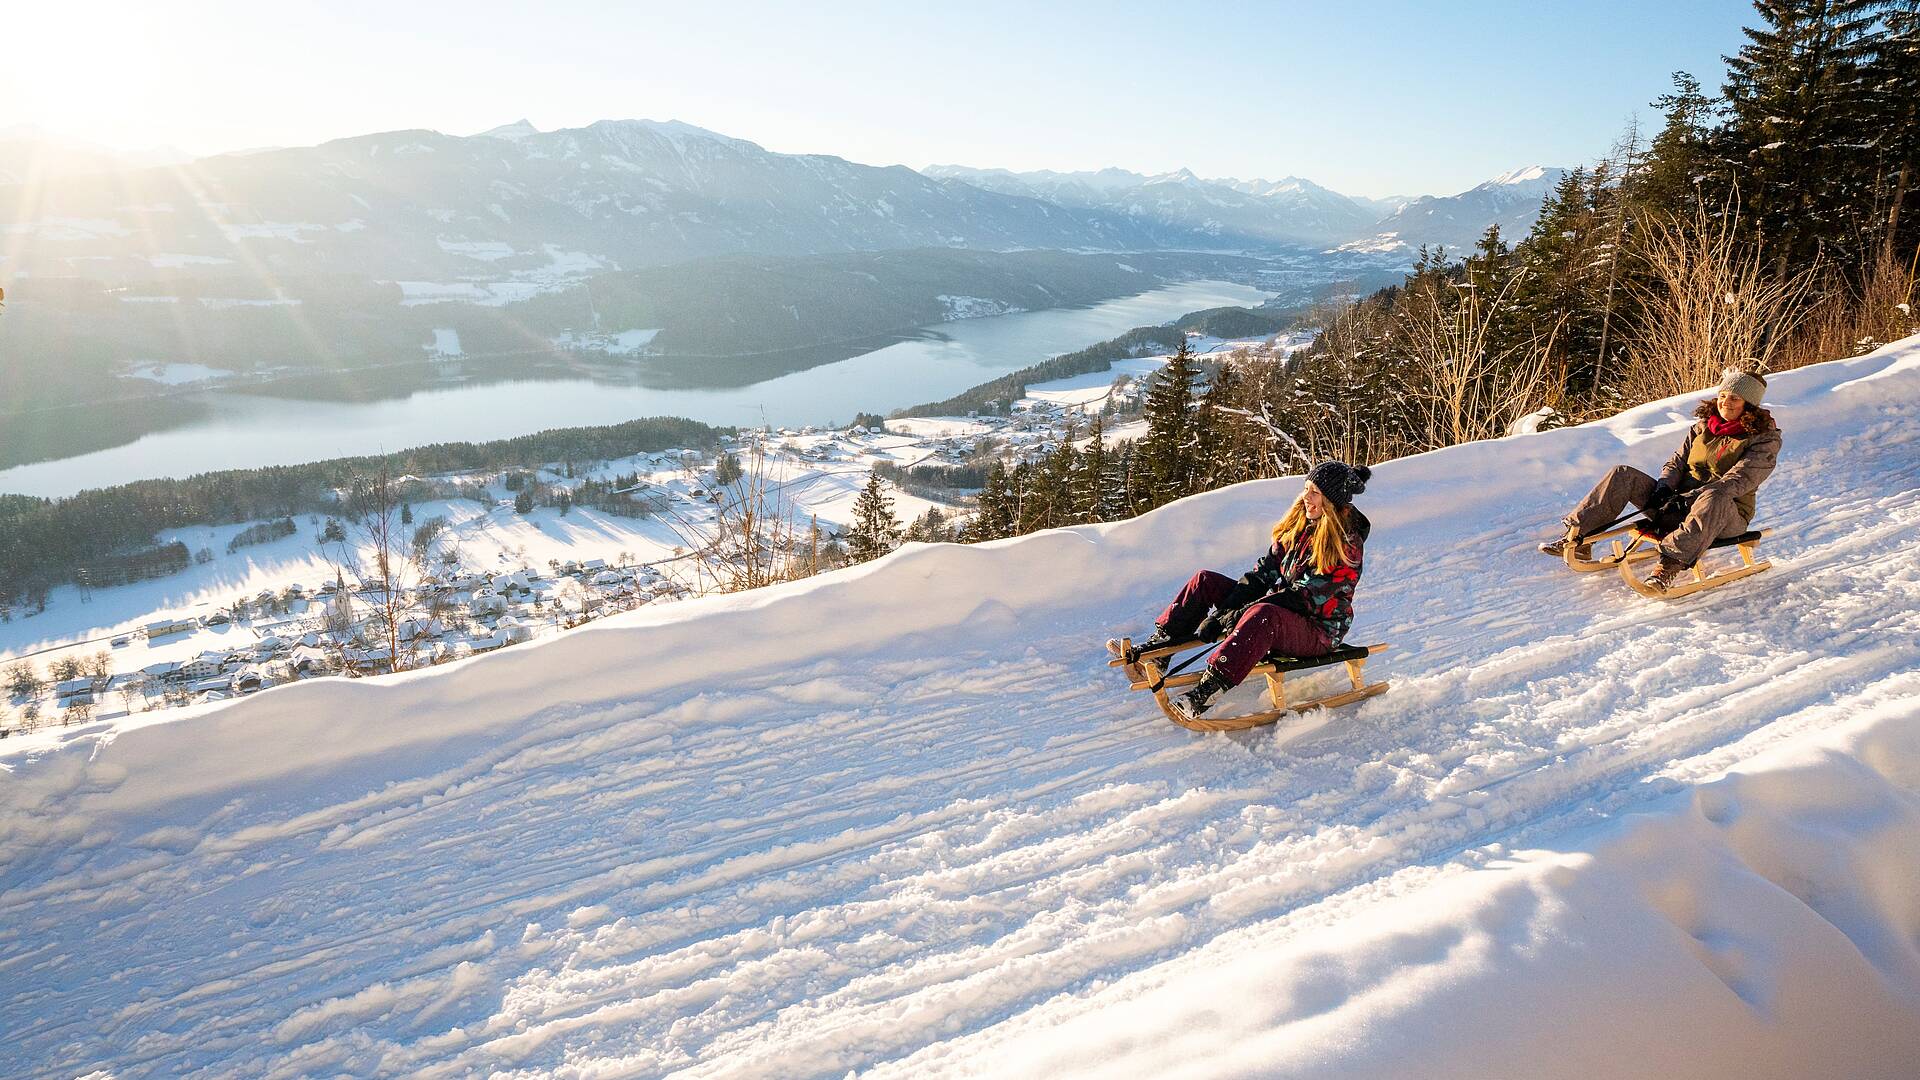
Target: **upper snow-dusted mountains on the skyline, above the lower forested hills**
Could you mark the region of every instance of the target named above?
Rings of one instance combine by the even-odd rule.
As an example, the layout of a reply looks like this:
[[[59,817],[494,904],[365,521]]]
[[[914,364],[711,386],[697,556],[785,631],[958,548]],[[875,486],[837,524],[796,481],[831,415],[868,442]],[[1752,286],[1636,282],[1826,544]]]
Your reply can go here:
[[[0,133],[0,271],[530,281],[708,256],[899,248],[1210,250],[1400,258],[1511,234],[1559,171],[1457,196],[1356,200],[1300,177],[876,167],[774,154],[680,121],[472,136],[390,131],[138,165]],[[12,188],[12,190],[8,190]],[[228,267],[223,271],[221,267]]]

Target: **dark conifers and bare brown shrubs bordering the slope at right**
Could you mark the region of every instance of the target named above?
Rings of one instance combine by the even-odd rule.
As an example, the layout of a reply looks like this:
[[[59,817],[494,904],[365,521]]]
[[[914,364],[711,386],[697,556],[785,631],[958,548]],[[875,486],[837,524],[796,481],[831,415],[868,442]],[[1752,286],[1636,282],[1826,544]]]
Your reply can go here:
[[[1651,138],[1571,171],[1532,231],[1421,250],[1402,284],[1321,311],[1283,359],[1185,354],[1148,434],[996,467],[970,540],[1112,521],[1323,457],[1379,463],[1580,423],[1912,334],[1920,2],[1761,0],[1728,81],[1680,71]],[[1085,434],[1085,432],[1083,432]]]

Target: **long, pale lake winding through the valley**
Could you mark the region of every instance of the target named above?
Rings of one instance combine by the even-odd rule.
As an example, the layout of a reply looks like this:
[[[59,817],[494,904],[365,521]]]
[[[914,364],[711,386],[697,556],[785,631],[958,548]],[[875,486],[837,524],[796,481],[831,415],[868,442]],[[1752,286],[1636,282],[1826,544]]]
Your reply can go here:
[[[735,379],[687,386],[666,357],[609,363],[603,354],[520,354],[407,361],[372,369],[399,375],[399,386],[369,386],[371,369],[303,373],[301,394],[278,396],[259,384],[238,390],[194,388],[127,404],[92,405],[56,423],[23,425],[0,444],[0,492],[71,496],[86,488],[157,477],[188,477],[244,467],[294,465],[434,442],[486,442],[532,430],[593,427],[630,417],[687,417],[714,427],[833,427],[856,413],[887,413],[914,402],[989,382],[1035,361],[1096,344],[1140,325],[1162,325],[1215,306],[1258,306],[1267,290],[1188,281],[1087,306],[956,319],[910,332],[841,359],[781,354],[772,365],[749,365]],[[528,359],[540,357],[540,363]],[[804,365],[799,371],[781,367]],[[459,379],[420,379],[457,371]],[[676,379],[676,375],[680,375]],[[332,398],[315,394],[330,384]],[[733,382],[726,386],[716,382]],[[372,380],[378,382],[378,380]],[[676,386],[678,382],[678,386]],[[286,386],[288,380],[280,380]],[[165,405],[161,405],[165,404]],[[159,409],[163,415],[142,415]],[[156,430],[156,423],[159,430]],[[27,444],[54,440],[46,457]],[[21,461],[36,455],[38,461]],[[21,461],[21,463],[12,463]]]

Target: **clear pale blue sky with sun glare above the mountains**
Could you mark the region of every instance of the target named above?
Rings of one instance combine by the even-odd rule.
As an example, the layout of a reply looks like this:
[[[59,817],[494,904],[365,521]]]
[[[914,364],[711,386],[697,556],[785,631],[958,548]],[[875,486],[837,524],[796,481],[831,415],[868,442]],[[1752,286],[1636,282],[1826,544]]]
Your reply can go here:
[[[1453,192],[1709,88],[1745,0],[1605,4],[36,4],[0,125],[194,154],[518,117],[682,119],[876,165]]]

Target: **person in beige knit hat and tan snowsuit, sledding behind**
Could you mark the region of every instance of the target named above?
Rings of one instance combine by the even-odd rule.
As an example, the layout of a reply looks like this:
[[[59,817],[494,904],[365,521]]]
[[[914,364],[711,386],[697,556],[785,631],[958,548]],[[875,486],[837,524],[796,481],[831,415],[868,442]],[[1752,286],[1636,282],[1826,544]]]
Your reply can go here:
[[[1659,480],[1617,465],[1561,521],[1567,536],[1540,550],[1565,557],[1572,548],[1576,559],[1588,559],[1586,538],[1634,503],[1661,532],[1661,561],[1645,584],[1651,592],[1672,588],[1715,540],[1738,536],[1753,521],[1755,492],[1780,455],[1780,425],[1761,407],[1764,394],[1766,380],[1759,375],[1726,371],[1718,394],[1693,411],[1693,427]]]

